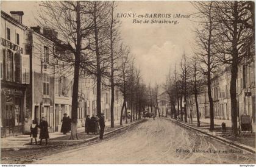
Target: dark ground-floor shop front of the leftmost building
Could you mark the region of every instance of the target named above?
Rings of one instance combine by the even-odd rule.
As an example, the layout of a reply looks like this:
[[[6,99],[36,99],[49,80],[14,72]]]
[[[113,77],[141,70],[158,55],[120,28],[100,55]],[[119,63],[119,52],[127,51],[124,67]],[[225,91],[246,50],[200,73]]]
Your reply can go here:
[[[24,90],[14,85],[1,85],[1,137],[23,133]]]

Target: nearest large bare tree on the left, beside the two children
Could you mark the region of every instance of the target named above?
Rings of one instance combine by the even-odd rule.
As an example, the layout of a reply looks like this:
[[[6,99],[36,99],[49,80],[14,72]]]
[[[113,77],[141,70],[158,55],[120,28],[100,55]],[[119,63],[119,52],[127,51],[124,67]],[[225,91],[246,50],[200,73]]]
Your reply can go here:
[[[71,140],[77,139],[77,98],[80,66],[82,66],[82,63],[87,65],[87,59],[85,58],[87,55],[84,54],[84,51],[90,49],[90,44],[85,38],[91,29],[91,24],[85,21],[87,5],[87,2],[80,1],[45,1],[42,4],[43,12],[38,18],[38,23],[41,26],[57,31],[60,40],[56,37],[57,35],[49,37],[54,42],[55,50],[62,49],[68,52],[68,54],[55,54],[55,58],[68,63],[74,68]]]

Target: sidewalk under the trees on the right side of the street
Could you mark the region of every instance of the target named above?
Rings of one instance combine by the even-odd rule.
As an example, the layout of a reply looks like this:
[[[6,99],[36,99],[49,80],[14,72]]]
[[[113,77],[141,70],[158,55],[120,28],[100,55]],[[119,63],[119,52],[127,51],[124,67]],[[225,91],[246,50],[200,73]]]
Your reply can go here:
[[[171,119],[173,122],[177,122],[175,119]],[[188,120],[189,121],[189,120]],[[226,132],[222,132],[221,123],[226,123]],[[200,127],[197,127],[196,119],[193,119],[193,123],[183,123],[180,122],[191,129],[197,130],[199,132],[205,133],[211,137],[215,137],[218,140],[224,141],[229,144],[233,144],[235,146],[241,147],[243,149],[247,149],[251,152],[255,152],[255,131],[251,132],[242,132],[241,136],[233,137],[232,135],[232,123],[230,120],[224,119],[215,119],[215,130],[210,131],[210,118],[208,119],[200,119]],[[253,124],[255,126],[255,124]],[[255,127],[254,127],[255,128]]]

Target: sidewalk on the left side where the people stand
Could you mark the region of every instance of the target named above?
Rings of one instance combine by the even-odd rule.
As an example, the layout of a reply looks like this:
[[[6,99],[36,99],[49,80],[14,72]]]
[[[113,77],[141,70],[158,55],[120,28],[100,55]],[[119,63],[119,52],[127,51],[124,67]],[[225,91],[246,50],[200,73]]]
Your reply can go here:
[[[138,123],[138,121],[135,121],[133,123]],[[126,126],[130,126],[130,124],[131,123],[128,123],[128,124],[123,123],[123,126],[120,126],[119,122],[116,122],[115,127],[110,128],[110,121],[106,122],[104,134],[107,134],[110,131],[112,132],[113,130],[118,130]],[[40,148],[40,147],[52,147],[52,146],[67,146],[74,143],[82,143],[85,141],[90,141],[99,137],[99,135],[93,135],[93,134],[87,135],[87,133],[85,133],[84,131],[85,131],[85,127],[79,127],[77,129],[77,136],[79,140],[69,140],[70,133],[68,133],[68,135],[63,135],[63,133],[60,133],[60,132],[49,133],[49,140],[48,140],[47,146],[44,145],[45,143],[44,140],[41,146],[35,145],[35,140],[33,140],[33,145],[30,145],[29,135],[18,135],[16,137],[1,138],[1,149],[5,149],[5,150],[10,149],[10,150],[18,151],[20,149],[31,149],[35,147]],[[39,134],[38,134],[38,137],[39,137]],[[37,141],[39,143],[40,141],[39,138],[37,138]]]

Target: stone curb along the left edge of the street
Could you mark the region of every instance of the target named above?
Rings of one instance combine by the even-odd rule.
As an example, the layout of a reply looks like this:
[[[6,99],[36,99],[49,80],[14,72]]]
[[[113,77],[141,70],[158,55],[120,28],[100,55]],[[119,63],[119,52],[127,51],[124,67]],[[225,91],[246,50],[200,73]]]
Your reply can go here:
[[[136,124],[140,124],[140,123],[143,123],[144,121],[146,121],[146,119],[141,119],[135,123],[132,123],[132,124],[129,124],[127,126],[123,126],[123,127],[119,127],[118,129],[114,129],[114,130],[111,130],[109,132],[106,132],[104,133],[104,135],[109,135],[111,133],[114,133],[114,132],[118,132],[119,130],[122,130],[122,129],[125,129],[127,127],[131,127],[131,126],[134,126]],[[87,138],[85,140],[79,140],[77,142],[74,142],[74,143],[71,143],[71,144],[67,144],[66,146],[76,146],[78,144],[84,144],[84,143],[88,143],[89,141],[93,141],[93,140],[97,140],[99,137],[98,135],[95,136],[95,137],[91,137],[91,138]],[[32,146],[32,147],[12,147],[12,148],[2,148],[1,151],[20,151],[20,150],[25,150],[25,149],[44,149],[44,148],[48,148],[48,147],[59,147],[58,145],[57,146]]]

